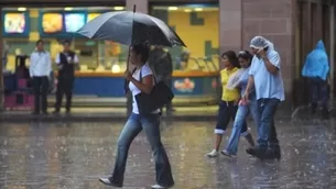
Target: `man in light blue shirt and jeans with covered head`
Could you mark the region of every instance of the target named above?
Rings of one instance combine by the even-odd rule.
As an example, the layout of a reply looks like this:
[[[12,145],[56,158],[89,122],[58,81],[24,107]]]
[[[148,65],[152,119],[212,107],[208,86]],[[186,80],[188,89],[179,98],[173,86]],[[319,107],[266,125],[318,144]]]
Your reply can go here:
[[[280,55],[273,44],[262,36],[254,36],[250,47],[254,56],[243,98],[248,100],[256,89],[260,124],[258,146],[248,148],[247,153],[259,158],[280,159],[281,151],[274,124],[277,108],[284,100]]]

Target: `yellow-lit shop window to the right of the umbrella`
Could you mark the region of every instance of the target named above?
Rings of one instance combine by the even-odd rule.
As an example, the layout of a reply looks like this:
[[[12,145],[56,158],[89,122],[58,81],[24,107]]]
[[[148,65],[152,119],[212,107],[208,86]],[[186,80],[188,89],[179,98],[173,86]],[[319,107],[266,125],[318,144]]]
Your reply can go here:
[[[218,5],[153,5],[150,13],[176,31],[187,46],[166,49],[171,53],[175,70],[218,70]]]

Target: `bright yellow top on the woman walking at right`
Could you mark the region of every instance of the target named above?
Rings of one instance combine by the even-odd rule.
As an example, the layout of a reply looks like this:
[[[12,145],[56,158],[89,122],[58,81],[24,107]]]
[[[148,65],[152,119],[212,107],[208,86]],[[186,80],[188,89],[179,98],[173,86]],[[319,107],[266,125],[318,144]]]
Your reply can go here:
[[[226,88],[226,85],[232,74],[235,74],[239,68],[234,68],[231,70],[228,70],[227,68],[223,69],[220,71],[220,78],[221,78],[221,85],[223,85],[223,93],[221,93],[221,100],[223,101],[236,101],[239,100],[240,93],[238,89],[228,89]]]

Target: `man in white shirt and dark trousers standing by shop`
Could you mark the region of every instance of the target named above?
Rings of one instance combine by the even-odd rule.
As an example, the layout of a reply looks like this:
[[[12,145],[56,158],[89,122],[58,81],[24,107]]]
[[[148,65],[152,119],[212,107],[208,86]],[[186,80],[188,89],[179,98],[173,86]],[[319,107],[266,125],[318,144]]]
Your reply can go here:
[[[48,77],[52,71],[52,60],[48,52],[44,51],[44,42],[36,42],[36,49],[30,57],[30,77],[32,78],[35,97],[35,108],[33,114],[40,114],[40,110],[47,114],[47,90]]]

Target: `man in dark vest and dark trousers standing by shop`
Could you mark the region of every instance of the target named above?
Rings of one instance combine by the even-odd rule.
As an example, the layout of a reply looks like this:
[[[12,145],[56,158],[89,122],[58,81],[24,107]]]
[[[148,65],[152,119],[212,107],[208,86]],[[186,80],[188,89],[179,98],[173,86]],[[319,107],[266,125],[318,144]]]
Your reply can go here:
[[[71,113],[73,87],[75,80],[75,65],[78,65],[78,56],[75,52],[71,51],[71,42],[63,42],[63,52],[58,53],[55,63],[58,67],[58,82],[56,90],[56,104],[54,113],[59,113],[62,99],[66,97],[66,113]]]

